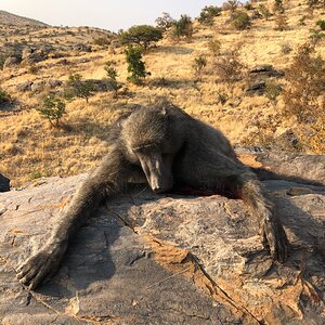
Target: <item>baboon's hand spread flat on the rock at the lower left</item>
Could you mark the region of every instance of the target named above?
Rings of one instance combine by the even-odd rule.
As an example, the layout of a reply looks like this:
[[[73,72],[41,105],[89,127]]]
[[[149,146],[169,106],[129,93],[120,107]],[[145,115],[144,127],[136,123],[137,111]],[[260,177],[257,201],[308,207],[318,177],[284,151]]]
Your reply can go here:
[[[16,270],[17,278],[29,290],[35,289],[44,278],[51,278],[62,260],[66,245],[48,245],[40,249]]]

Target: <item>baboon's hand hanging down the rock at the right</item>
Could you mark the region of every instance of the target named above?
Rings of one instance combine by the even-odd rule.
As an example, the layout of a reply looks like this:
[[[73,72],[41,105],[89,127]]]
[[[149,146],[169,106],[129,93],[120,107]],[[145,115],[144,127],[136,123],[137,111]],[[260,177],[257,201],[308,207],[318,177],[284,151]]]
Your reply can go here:
[[[289,243],[283,226],[276,221],[263,223],[263,244],[270,249],[273,260],[284,262],[288,257]]]

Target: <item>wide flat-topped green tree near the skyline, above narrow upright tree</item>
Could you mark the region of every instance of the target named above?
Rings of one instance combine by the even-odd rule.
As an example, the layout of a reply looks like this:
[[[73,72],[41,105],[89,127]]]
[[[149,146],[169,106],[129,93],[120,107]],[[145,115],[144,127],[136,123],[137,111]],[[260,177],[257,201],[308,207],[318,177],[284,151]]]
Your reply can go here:
[[[132,26],[119,35],[122,44],[135,44],[144,49],[147,49],[153,42],[157,42],[161,38],[161,29],[150,25]]]

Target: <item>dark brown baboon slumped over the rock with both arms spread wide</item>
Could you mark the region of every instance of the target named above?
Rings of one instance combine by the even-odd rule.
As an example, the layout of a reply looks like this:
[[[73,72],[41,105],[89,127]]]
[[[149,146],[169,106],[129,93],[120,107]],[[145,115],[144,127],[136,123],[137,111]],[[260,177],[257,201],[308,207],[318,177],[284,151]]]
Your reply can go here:
[[[134,178],[155,193],[183,186],[244,199],[258,217],[272,258],[286,259],[286,234],[256,173],[238,160],[219,130],[165,101],[133,110],[113,127],[108,154],[77,191],[44,247],[17,269],[20,282],[34,289],[51,278],[77,230],[105,197],[123,191]]]

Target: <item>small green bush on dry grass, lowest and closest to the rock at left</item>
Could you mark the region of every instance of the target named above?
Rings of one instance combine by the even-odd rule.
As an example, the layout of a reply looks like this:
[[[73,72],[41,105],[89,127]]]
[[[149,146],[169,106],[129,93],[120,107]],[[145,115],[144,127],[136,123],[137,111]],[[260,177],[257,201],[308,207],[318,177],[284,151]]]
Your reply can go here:
[[[53,94],[43,99],[42,105],[37,107],[36,110],[46,119],[49,120],[51,126],[57,128],[60,120],[65,112],[65,102]]]

